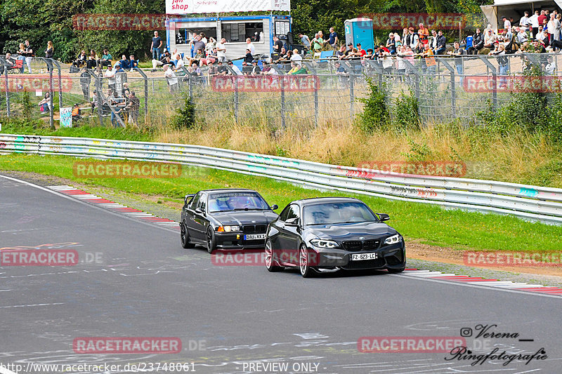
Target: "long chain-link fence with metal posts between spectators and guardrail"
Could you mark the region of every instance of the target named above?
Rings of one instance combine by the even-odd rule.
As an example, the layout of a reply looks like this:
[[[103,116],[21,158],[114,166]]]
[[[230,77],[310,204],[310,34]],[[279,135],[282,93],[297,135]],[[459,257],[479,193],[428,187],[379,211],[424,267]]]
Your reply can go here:
[[[384,84],[389,107],[396,105],[400,93],[412,92],[426,122],[460,119],[477,123],[478,112],[497,110],[514,100],[513,93],[521,86],[560,92],[561,59],[555,53],[435,56],[431,60],[413,56],[318,59],[302,62],[306,74],[287,74],[291,65],[286,62],[273,64],[269,74],[258,76],[237,75],[230,65],[227,75],[216,74],[216,67],[183,67],[166,79],[161,68],[117,72],[110,77],[105,68],[77,68],[44,58],[32,60],[31,74],[23,61],[26,72],[22,73],[0,57],[4,80],[0,114],[43,118],[54,126],[60,108],[78,105],[80,121],[100,126],[125,126],[127,122],[155,126],[167,123],[184,95],[189,95],[198,119],[207,123],[267,123],[272,128],[346,124],[362,110],[357,99],[367,94],[370,78],[374,84]],[[261,61],[259,65],[267,66]],[[529,87],[521,79],[531,66],[544,71],[546,78],[539,86],[533,81],[534,86]],[[138,102],[131,107],[128,94],[132,92]]]

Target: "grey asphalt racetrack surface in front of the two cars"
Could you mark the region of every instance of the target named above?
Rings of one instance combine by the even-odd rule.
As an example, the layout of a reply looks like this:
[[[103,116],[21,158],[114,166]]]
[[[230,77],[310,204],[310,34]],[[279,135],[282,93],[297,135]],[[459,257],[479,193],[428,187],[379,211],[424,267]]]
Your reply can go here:
[[[76,251],[79,259],[66,266],[2,262],[3,374],[63,373],[63,366],[45,370],[36,364],[64,364],[66,373],[171,373],[165,363],[186,364],[181,370],[176,366],[176,373],[562,370],[558,296],[386,272],[303,279],[296,271],[214,265],[204,248],[181,248],[177,230],[1,177],[0,212],[0,253],[66,250]],[[388,352],[391,341],[427,343],[461,335],[473,355],[496,348],[497,354],[506,353],[475,363],[476,358],[455,357],[429,344],[425,351]],[[181,350],[80,353],[77,341],[93,337],[172,337]],[[374,338],[363,345],[362,337]],[[377,347],[387,351],[360,352]],[[442,352],[428,352],[436,350]],[[536,352],[528,362],[506,358]]]

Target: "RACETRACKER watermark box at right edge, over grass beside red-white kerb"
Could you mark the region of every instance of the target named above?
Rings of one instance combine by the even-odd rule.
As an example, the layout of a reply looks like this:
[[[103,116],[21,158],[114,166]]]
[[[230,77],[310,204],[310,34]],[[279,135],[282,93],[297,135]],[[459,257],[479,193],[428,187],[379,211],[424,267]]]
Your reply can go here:
[[[464,265],[476,267],[561,267],[562,252],[472,252],[465,251]]]

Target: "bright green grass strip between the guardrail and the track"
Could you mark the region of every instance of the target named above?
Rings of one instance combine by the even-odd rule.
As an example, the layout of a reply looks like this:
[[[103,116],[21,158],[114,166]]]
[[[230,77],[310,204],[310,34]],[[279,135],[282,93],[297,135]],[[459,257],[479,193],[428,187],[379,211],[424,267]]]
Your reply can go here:
[[[525,222],[510,216],[444,210],[424,203],[390,201],[366,195],[318,192],[268,178],[187,166],[183,168],[181,178],[74,178],[72,165],[76,161],[79,160],[65,156],[10,154],[0,156],[0,170],[32,171],[131,194],[164,195],[171,199],[181,199],[185,194],[200,189],[245,187],[256,189],[268,203],[279,205],[277,212],[296,199],[355,196],[365,201],[373,211],[390,214],[390,224],[409,240],[419,239],[422,243],[458,250],[560,251],[558,238],[562,237],[562,227]]]

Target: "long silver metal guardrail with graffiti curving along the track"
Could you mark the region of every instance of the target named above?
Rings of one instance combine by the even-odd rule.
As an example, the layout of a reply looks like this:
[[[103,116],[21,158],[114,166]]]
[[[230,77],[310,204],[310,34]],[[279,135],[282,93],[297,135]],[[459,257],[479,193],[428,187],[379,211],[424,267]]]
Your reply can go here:
[[[177,162],[259,175],[322,190],[438,204],[562,224],[562,189],[423,175],[382,174],[230,149],[157,142],[0,134],[0,153],[60,154],[96,159]],[[386,172],[385,172],[386,173]]]

